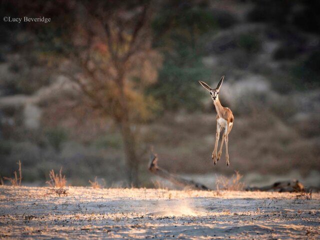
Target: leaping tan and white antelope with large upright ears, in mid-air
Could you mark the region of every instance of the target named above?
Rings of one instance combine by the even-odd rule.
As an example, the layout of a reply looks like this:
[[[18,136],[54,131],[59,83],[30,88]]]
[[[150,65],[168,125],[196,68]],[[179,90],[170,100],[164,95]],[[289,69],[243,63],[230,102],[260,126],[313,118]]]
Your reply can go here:
[[[223,107],[219,101],[219,90],[222,85],[224,76],[221,77],[216,88],[211,88],[208,84],[203,81],[199,81],[199,83],[210,92],[211,98],[213,100],[213,104],[216,110],[216,133],[215,133],[215,144],[212,152],[213,164],[215,165],[216,161],[220,159],[222,153],[223,140],[225,141],[225,161],[226,166],[229,166],[229,153],[228,153],[228,135],[232,129],[233,125],[233,114],[232,111],[228,107]],[[219,153],[217,153],[218,141],[220,137],[220,131],[224,128],[224,132],[222,135],[222,141],[220,144]]]

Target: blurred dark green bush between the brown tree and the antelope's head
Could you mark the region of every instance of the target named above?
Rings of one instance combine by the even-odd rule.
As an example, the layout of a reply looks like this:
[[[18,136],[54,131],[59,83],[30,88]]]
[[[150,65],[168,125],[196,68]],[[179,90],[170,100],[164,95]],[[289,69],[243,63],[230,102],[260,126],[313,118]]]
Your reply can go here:
[[[189,111],[201,107],[203,96],[198,80],[206,81],[210,71],[202,62],[201,37],[217,28],[216,17],[206,4],[169,1],[154,17],[153,46],[164,55],[158,81],[146,91],[160,100],[164,110]],[[222,20],[223,21],[223,20]]]

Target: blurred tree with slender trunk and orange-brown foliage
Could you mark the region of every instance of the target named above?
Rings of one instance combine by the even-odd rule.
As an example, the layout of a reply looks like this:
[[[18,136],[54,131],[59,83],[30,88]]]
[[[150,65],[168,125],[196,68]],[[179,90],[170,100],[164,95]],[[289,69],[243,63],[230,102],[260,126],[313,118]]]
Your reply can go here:
[[[118,125],[126,156],[128,181],[138,185],[139,159],[132,122],[151,113],[145,85],[156,80],[160,55],[151,48],[149,1],[83,1],[84,13],[74,25],[73,50],[68,58],[80,74],[69,75],[90,107],[111,116]]]

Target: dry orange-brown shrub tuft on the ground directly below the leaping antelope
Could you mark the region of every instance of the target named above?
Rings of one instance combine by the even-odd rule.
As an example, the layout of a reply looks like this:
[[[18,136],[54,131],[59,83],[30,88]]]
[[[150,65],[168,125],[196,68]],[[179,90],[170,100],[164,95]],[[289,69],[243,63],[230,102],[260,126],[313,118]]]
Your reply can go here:
[[[230,178],[225,176],[217,176],[215,180],[216,190],[232,190],[240,191],[244,188],[244,183],[241,182],[242,175],[238,171],[235,171]]]

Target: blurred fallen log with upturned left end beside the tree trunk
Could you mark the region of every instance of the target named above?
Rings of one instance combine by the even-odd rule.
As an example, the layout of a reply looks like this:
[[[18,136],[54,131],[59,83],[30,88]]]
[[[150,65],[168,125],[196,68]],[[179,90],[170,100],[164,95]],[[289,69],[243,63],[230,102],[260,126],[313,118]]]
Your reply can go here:
[[[150,156],[149,163],[148,163],[148,169],[153,174],[160,176],[164,179],[167,179],[170,182],[172,182],[173,184],[176,184],[176,185],[179,185],[182,187],[188,187],[188,188],[198,189],[198,190],[211,190],[201,183],[197,183],[192,180],[184,179],[180,176],[177,176],[177,175],[174,175],[174,174],[168,172],[167,170],[165,170],[157,165],[157,160],[158,160],[158,157],[157,157],[156,153],[151,152],[151,156]]]

